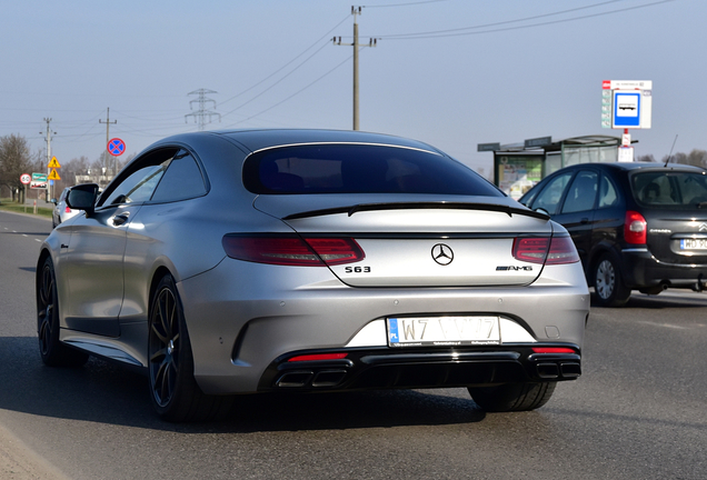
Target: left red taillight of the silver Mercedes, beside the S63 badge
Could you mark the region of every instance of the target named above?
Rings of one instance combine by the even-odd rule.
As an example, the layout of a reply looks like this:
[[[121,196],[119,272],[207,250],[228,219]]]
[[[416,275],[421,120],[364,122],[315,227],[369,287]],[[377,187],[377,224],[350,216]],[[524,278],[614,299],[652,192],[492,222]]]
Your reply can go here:
[[[230,258],[257,263],[325,267],[366,258],[351,238],[305,238],[297,234],[263,236],[229,233],[221,240]]]

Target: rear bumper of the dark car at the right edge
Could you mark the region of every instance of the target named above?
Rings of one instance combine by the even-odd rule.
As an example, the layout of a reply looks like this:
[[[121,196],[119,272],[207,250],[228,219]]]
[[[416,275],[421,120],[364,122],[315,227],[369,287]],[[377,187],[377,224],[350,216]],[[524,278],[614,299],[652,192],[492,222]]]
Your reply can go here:
[[[707,281],[707,266],[668,263],[658,260],[648,249],[629,249],[624,256],[627,286],[640,288],[696,288]]]

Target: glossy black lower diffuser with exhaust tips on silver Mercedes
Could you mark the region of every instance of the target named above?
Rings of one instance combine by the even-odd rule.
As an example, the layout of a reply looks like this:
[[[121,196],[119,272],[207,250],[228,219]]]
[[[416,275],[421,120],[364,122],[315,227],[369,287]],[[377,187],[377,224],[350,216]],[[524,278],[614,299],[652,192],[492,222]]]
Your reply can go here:
[[[567,346],[564,346],[567,347]],[[293,352],[273,361],[260,379],[259,391],[325,391],[391,388],[488,386],[525,381],[575,380],[580,354],[535,353],[529,347],[494,349],[357,349],[337,360],[291,361]]]

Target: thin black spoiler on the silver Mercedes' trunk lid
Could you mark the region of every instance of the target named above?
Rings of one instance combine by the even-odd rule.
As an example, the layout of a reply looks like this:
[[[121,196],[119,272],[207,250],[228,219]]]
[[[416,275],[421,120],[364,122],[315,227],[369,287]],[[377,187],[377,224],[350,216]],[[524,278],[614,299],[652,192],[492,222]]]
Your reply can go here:
[[[311,217],[321,217],[337,213],[348,213],[351,217],[354,213],[362,211],[375,210],[416,210],[416,209],[439,209],[439,210],[481,210],[481,211],[496,211],[512,217],[514,214],[520,214],[525,217],[532,217],[540,220],[549,220],[550,217],[546,213],[529,210],[525,207],[510,207],[506,204],[497,203],[465,203],[465,202],[389,202],[389,203],[360,203],[349,207],[336,207],[323,210],[310,210],[299,213],[292,213],[285,217],[283,220],[295,220]]]

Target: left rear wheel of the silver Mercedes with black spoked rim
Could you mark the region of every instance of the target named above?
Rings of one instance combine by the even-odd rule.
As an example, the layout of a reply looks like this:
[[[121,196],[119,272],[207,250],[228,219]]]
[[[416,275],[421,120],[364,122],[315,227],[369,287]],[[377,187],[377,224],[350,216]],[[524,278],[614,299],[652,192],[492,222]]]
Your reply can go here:
[[[205,394],[193,378],[193,357],[175,280],[165,276],[152,296],[149,316],[150,399],[157,414],[171,422],[221,419],[230,397]]]

